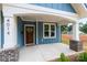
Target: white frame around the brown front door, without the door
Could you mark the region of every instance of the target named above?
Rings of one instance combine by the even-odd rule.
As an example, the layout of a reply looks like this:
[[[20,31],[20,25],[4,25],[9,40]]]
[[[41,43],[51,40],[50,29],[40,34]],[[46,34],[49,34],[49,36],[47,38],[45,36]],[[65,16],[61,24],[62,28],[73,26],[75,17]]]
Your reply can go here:
[[[33,26],[34,29],[34,32],[33,32],[33,43],[32,43],[32,45],[34,45],[35,44],[35,25],[33,25],[33,24],[24,24],[24,45],[25,46],[28,46],[28,45],[31,45],[31,44],[26,44],[26,33],[25,33],[25,29],[26,29],[26,26]]]

